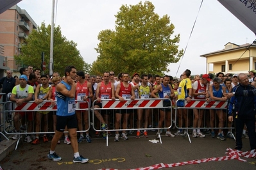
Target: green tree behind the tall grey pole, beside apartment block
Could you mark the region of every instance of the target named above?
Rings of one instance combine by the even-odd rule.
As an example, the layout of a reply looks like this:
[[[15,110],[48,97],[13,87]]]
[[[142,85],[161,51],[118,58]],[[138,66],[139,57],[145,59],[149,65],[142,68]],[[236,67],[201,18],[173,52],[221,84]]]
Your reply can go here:
[[[89,72],[90,65],[83,61],[79,50],[76,49],[77,44],[62,36],[60,26],[55,27],[53,39],[53,72],[64,74],[67,65],[74,65],[77,70]],[[44,52],[45,73],[49,73],[47,65],[50,58],[50,40],[51,25],[46,27],[46,24],[42,22],[42,25],[33,30],[28,38],[21,43],[21,54],[15,56],[15,60],[23,63],[23,65],[41,68],[41,54]]]

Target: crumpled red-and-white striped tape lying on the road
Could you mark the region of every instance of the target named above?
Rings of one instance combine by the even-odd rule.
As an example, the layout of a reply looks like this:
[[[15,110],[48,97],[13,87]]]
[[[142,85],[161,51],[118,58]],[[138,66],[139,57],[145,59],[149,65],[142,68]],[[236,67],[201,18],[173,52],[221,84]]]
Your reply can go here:
[[[237,159],[241,162],[246,162],[246,160],[241,159],[240,157],[245,157],[245,158],[252,158],[256,156],[256,150],[252,151],[239,151],[239,150],[232,150],[231,148],[226,149],[226,154],[228,154],[225,157],[217,157],[217,158],[203,158],[203,159],[197,159],[197,160],[190,160],[187,162],[179,162],[179,163],[174,163],[174,164],[155,164],[153,166],[149,167],[139,167],[135,169],[129,169],[129,170],[149,170],[149,169],[162,169],[162,168],[167,168],[167,167],[176,167],[176,166],[185,166],[185,165],[191,165],[191,164],[200,164],[203,162],[210,162],[210,161],[221,161],[221,160],[232,160],[232,159]],[[118,169],[99,169],[99,170],[118,170]],[[128,169],[127,169],[128,170]]]

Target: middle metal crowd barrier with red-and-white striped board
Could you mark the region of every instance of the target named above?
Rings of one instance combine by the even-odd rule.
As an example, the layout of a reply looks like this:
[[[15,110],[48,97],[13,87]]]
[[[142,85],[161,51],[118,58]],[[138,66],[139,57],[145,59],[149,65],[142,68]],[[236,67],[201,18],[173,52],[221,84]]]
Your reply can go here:
[[[109,99],[104,99],[102,100],[102,108],[95,108],[94,105],[96,104],[96,102],[98,102],[97,100],[94,100],[93,104],[92,104],[92,122],[98,121],[97,118],[95,118],[96,116],[94,115],[94,111],[98,110],[99,112],[101,111],[107,111],[107,117],[105,117],[105,121],[110,121],[108,122],[108,129],[107,130],[101,130],[101,122],[99,122],[99,126],[97,127],[96,123],[93,123],[93,128],[96,132],[106,132],[107,133],[107,139],[106,139],[106,143],[108,146],[108,132],[115,132],[115,131],[122,131],[125,130],[126,132],[128,131],[137,131],[137,130],[161,130],[161,129],[167,129],[167,128],[171,128],[172,126],[172,105],[168,106],[168,107],[164,107],[163,106],[163,101],[164,100],[169,100],[170,104],[171,104],[171,100],[169,98],[147,98],[147,99],[135,99],[135,100],[124,100],[124,102],[121,102],[120,100],[109,100]],[[115,129],[115,112],[119,109],[133,109],[133,111],[130,113],[130,117],[132,118],[132,123],[130,123],[130,127],[127,128],[121,128],[122,127],[122,123],[120,123],[120,128],[119,129]],[[160,118],[160,114],[159,114],[159,109],[169,109],[169,112],[171,112],[171,125],[169,127],[165,127],[165,123],[163,123],[164,127],[151,127],[151,128],[141,128],[141,127],[137,127],[135,128],[136,123],[134,123],[135,120],[135,112],[138,109],[151,109],[151,114],[153,114],[152,109],[158,109],[157,112],[157,116],[158,119]],[[101,114],[102,115],[102,114]],[[151,115],[152,116],[152,115]],[[143,117],[142,117],[143,118]],[[166,118],[166,115],[165,115]],[[164,118],[164,122],[166,121],[166,119]],[[104,119],[104,118],[103,118]],[[128,120],[128,119],[127,119]],[[130,121],[130,120],[128,120]],[[157,121],[158,123],[158,121]],[[126,122],[126,124],[128,125],[129,123]],[[131,125],[132,124],[132,125]],[[153,125],[153,123],[151,122],[151,125]],[[160,143],[162,143],[162,139],[160,136],[160,133],[158,133],[158,138],[160,139]]]

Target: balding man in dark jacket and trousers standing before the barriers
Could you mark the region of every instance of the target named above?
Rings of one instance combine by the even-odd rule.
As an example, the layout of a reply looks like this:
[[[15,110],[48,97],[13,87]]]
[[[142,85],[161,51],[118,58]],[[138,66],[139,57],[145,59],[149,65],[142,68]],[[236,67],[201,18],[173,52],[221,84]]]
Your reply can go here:
[[[249,84],[249,79],[245,73],[240,73],[238,76],[240,84],[233,88],[233,92],[242,93],[241,91],[255,89]],[[232,97],[228,106],[228,120],[235,120],[235,149],[243,148],[242,132],[244,124],[247,127],[251,150],[256,149],[256,134],[255,134],[255,104],[256,97]],[[234,111],[233,109],[234,107]]]

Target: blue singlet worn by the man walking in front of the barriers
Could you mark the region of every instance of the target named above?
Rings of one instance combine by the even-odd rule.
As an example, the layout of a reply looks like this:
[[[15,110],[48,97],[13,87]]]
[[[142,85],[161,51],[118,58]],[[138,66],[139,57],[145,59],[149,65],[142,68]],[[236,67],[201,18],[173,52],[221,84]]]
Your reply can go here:
[[[64,81],[60,83],[64,84],[65,88],[68,91],[71,90],[71,86]],[[63,95],[62,93],[56,91],[56,104],[57,104],[57,113],[58,116],[71,116],[75,114],[76,111],[76,102],[74,102],[74,98],[69,98]]]

